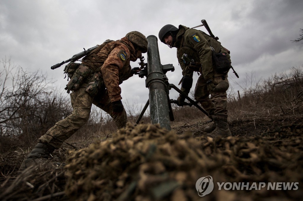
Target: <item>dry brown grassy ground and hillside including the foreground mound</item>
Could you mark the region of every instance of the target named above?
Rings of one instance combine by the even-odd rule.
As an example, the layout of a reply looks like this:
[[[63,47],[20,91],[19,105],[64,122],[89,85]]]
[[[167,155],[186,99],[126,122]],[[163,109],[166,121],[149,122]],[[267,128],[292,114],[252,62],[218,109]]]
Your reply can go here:
[[[132,106],[127,128],[116,132],[109,116],[94,113],[54,152],[48,166],[18,174],[30,151],[28,145],[35,145],[35,140],[23,143],[24,136],[20,140],[1,132],[0,199],[196,200],[196,180],[211,175],[216,182],[299,182],[299,189],[217,189],[206,200],[299,200],[303,196],[302,77],[302,68],[293,68],[290,74],[243,88],[240,97],[231,91],[233,136],[226,139],[201,136],[209,119],[195,107],[173,107],[175,121],[168,132],[155,125],[132,126],[138,117]],[[148,117],[143,122],[149,123]],[[34,134],[41,132],[45,130]]]

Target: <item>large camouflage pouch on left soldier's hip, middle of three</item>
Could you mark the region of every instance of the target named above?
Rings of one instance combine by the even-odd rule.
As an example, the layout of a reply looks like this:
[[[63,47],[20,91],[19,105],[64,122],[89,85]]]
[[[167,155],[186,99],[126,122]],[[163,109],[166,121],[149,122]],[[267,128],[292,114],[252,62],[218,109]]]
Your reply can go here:
[[[84,80],[92,74],[92,69],[85,65],[79,65],[71,77],[71,80],[67,83],[65,90],[69,94],[70,91],[76,91],[80,88],[80,85]]]

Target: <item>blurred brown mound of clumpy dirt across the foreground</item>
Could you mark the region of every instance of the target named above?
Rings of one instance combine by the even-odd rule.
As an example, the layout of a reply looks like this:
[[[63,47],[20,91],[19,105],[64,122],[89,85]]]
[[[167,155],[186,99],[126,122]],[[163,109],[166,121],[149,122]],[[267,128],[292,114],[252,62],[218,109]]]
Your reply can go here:
[[[65,192],[72,200],[197,200],[196,182],[208,175],[206,200],[302,198],[303,125],[264,136],[193,138],[157,125],[118,130],[112,140],[67,156]],[[298,190],[218,190],[217,182],[298,182]]]

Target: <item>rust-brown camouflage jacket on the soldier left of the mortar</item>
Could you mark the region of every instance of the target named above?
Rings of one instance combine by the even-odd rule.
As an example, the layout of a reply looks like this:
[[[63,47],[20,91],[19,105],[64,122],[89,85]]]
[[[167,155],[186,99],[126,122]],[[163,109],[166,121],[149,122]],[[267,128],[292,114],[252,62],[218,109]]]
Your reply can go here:
[[[130,61],[136,61],[135,48],[126,37],[110,41],[102,49],[82,59],[82,64],[102,74],[111,102],[121,100],[120,84],[132,76]]]

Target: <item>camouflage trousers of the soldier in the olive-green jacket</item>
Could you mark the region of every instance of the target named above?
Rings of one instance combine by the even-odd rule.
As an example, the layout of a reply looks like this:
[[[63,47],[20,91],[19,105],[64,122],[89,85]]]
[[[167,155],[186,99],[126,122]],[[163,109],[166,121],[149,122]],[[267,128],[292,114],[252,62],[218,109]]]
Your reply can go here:
[[[201,106],[209,115],[215,115],[220,118],[227,119],[227,89],[229,87],[226,76],[215,76],[214,81],[219,83],[216,88],[218,90],[208,91],[206,80],[201,74],[198,78],[195,88],[195,99],[199,101]],[[211,95],[209,97],[209,95]]]

